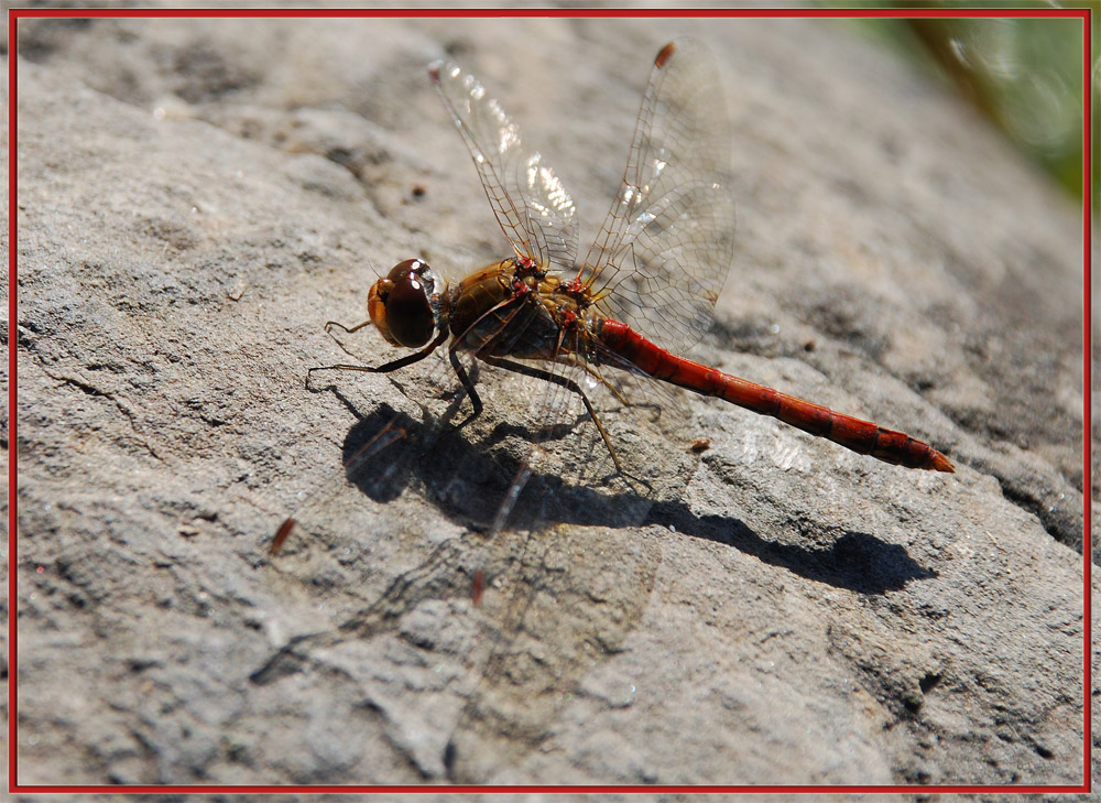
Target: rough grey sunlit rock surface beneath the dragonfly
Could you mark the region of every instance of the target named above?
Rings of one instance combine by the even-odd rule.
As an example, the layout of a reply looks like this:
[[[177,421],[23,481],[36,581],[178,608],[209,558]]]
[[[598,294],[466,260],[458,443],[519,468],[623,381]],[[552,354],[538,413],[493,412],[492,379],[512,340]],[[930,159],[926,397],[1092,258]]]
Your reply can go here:
[[[415,369],[304,389],[347,359],[321,324],[399,259],[506,250],[429,61],[542,145],[585,239],[682,33],[721,62],[739,198],[694,356],[959,471],[606,398],[650,490],[570,421],[487,539],[538,388],[483,371],[487,414],[437,440]],[[21,783],[1081,781],[1080,221],[945,90],[807,21],[20,44]],[[346,482],[395,415],[410,437]],[[291,510],[308,532],[271,557]]]

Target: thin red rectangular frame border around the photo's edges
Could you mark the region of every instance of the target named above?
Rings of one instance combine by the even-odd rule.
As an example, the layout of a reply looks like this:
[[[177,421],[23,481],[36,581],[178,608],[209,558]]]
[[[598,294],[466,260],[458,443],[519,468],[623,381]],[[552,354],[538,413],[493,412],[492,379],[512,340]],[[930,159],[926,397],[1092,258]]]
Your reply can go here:
[[[9,52],[8,52],[8,459],[9,459],[9,482],[8,482],[8,633],[9,633],[9,682],[8,682],[8,767],[9,767],[9,792],[44,793],[58,792],[72,794],[74,792],[88,793],[232,793],[232,792],[310,792],[310,793],[339,793],[352,791],[373,791],[392,793],[423,793],[426,791],[440,792],[501,792],[501,793],[525,793],[525,792],[550,792],[550,793],[590,793],[590,792],[621,792],[621,793],[654,793],[654,792],[780,792],[780,793],[961,793],[974,794],[981,792],[1004,792],[1004,793],[1089,793],[1091,791],[1091,764],[1090,746],[1092,744],[1092,723],[1090,717],[1090,686],[1091,686],[1091,664],[1090,643],[1092,636],[1091,619],[1091,577],[1092,577],[1092,545],[1090,540],[1090,522],[1092,513],[1092,500],[1090,492],[1092,488],[1092,466],[1091,466],[1091,355],[1092,335],[1090,322],[1092,310],[1090,305],[1091,276],[1090,265],[1092,259],[1092,94],[1091,94],[1091,69],[1090,58],[1092,53],[1092,8],[1080,9],[816,9],[816,10],[794,10],[794,9],[370,9],[370,10],[346,10],[346,9],[12,9],[8,10]],[[770,786],[447,786],[447,785],[388,785],[388,786],[358,786],[358,785],[330,785],[330,786],[302,786],[302,785],[21,785],[18,782],[17,724],[19,721],[17,708],[17,695],[12,690],[17,686],[18,679],[18,630],[17,630],[17,608],[18,608],[18,566],[17,542],[18,542],[18,443],[17,436],[17,400],[18,400],[18,360],[15,346],[19,343],[19,306],[17,300],[17,264],[18,264],[18,144],[17,144],[17,64],[18,64],[18,21],[31,18],[156,18],[156,19],[190,19],[190,18],[217,18],[217,19],[240,19],[240,18],[314,18],[314,19],[346,19],[346,18],[418,18],[418,17],[444,17],[444,18],[534,18],[534,17],[556,17],[556,18],[814,18],[814,19],[928,19],[928,18],[1062,18],[1078,19],[1083,26],[1083,54],[1082,54],[1082,87],[1083,87],[1083,124],[1082,124],[1082,297],[1083,297],[1083,319],[1082,319],[1082,397],[1083,397],[1083,421],[1082,421],[1082,477],[1083,477],[1083,536],[1082,536],[1082,616],[1083,616],[1083,660],[1082,660],[1082,708],[1083,708],[1083,780],[1081,785],[837,785],[837,786],[811,786],[811,785],[770,785]]]

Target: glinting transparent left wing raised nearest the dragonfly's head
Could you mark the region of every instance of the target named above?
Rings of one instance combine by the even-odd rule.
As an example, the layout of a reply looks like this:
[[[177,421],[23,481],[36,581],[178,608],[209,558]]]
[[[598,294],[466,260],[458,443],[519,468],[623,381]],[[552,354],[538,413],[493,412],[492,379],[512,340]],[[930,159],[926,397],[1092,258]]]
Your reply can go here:
[[[574,202],[538,151],[477,78],[450,62],[428,67],[432,82],[467,143],[493,214],[516,254],[571,269],[577,258]]]

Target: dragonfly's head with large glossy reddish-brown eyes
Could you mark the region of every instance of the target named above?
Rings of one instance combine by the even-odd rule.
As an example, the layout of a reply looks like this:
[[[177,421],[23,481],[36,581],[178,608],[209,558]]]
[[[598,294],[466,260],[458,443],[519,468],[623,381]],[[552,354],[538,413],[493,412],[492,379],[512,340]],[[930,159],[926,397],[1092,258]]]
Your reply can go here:
[[[367,311],[388,343],[421,348],[436,329],[439,291],[427,262],[407,259],[371,285]]]

